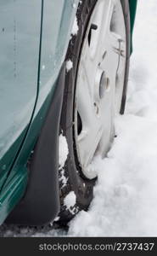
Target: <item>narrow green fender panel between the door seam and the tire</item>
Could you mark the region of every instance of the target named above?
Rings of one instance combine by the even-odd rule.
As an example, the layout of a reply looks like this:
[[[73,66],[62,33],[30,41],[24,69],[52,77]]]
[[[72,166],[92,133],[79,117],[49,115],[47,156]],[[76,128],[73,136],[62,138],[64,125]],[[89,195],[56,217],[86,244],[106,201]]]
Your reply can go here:
[[[8,176],[8,180],[5,183],[4,188],[8,186],[9,183],[11,183],[14,177],[20,176],[20,172],[21,170],[23,170],[23,166],[26,166],[26,162],[31,154],[31,150],[33,150],[36,144],[36,140],[40,136],[42,125],[44,125],[44,121],[48,113],[48,108],[53,99],[53,92],[56,81],[59,77],[59,70],[63,64],[66,50],[70,41],[70,32],[76,15],[76,8],[78,2],[78,0],[46,0],[42,2],[44,4],[42,5],[43,24],[40,61],[41,72],[39,80],[39,90],[36,98],[36,108],[31,119],[31,125],[29,127],[29,130],[26,133],[25,141],[20,148],[18,157],[14,161],[14,166],[12,166],[10,175]],[[73,4],[76,4],[75,9],[73,8]],[[58,6],[57,9],[56,6]],[[52,23],[52,20],[55,19],[54,16],[59,16],[56,18],[56,20],[58,20],[58,23]],[[67,22],[65,22],[65,20],[67,20]],[[58,27],[59,34],[54,33],[55,26]],[[47,27],[49,27],[49,30],[47,29]],[[61,42],[60,37],[64,37],[64,43]],[[53,40],[57,43],[54,44]],[[51,44],[51,42],[53,44]],[[60,47],[60,45],[62,45],[62,48]],[[60,55],[57,55],[57,49],[61,49]],[[48,56],[52,52],[54,53],[52,55],[53,58],[51,58],[51,61],[48,61]],[[58,62],[55,62],[56,58],[58,58]],[[54,63],[57,63],[57,65]]]

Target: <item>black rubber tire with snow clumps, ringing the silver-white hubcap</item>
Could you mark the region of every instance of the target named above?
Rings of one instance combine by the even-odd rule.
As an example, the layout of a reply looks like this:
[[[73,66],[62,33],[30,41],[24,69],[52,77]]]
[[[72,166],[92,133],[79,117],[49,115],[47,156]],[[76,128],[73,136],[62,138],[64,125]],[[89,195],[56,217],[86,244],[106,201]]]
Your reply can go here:
[[[87,27],[99,1],[101,0],[80,1],[76,13],[78,31],[75,33],[73,32],[73,35],[71,35],[66,55],[66,61],[70,64],[70,67],[68,65],[65,76],[60,134],[66,138],[69,154],[64,167],[60,166],[59,168],[60,212],[59,217],[56,218],[56,222],[60,225],[67,224],[71,218],[75,217],[77,212],[80,212],[81,210],[86,211],[88,209],[93,199],[93,186],[97,180],[97,177],[89,178],[82,172],[76,148],[74,112],[76,108],[76,79],[78,76],[79,63],[81,61],[81,51],[86,38]],[[122,85],[121,109],[119,111],[120,113],[124,113],[130,59],[130,15],[128,1],[121,0],[119,2],[121,3],[126,26],[126,65],[124,83]],[[66,180],[66,183],[64,183],[63,180]],[[68,198],[71,201],[71,205],[69,206],[66,203]]]

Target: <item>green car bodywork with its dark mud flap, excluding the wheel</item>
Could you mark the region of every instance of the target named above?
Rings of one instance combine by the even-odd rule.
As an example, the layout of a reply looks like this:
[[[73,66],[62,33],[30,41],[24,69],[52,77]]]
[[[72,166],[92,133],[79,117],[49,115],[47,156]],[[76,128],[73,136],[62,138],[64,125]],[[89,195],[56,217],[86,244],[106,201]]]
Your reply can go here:
[[[0,1],[0,224],[19,203],[11,218],[15,223],[48,222],[48,216],[40,217],[36,223],[29,217],[32,212],[37,215],[37,207],[47,211],[48,200],[52,202],[51,218],[59,211],[57,135],[63,98],[59,86],[63,84],[64,58],[78,3],[79,0]],[[131,30],[136,5],[137,0],[130,0]],[[46,135],[50,136],[49,144],[44,139]],[[52,162],[48,162],[50,151]],[[40,186],[45,187],[50,165],[53,189],[47,200],[51,192],[43,192]],[[44,173],[40,176],[40,172]],[[41,182],[36,185],[37,175]],[[33,199],[23,202],[24,195]]]

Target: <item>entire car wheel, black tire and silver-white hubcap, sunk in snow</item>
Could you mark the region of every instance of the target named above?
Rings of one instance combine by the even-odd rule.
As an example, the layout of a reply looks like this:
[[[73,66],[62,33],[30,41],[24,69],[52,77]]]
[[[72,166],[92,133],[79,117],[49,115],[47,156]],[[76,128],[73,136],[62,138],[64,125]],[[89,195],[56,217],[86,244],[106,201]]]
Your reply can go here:
[[[109,151],[115,114],[124,112],[129,57],[128,1],[80,1],[66,55],[60,131],[69,154],[59,169],[59,224],[92,201],[97,178],[92,163]]]

